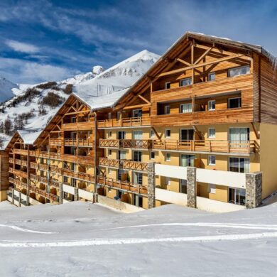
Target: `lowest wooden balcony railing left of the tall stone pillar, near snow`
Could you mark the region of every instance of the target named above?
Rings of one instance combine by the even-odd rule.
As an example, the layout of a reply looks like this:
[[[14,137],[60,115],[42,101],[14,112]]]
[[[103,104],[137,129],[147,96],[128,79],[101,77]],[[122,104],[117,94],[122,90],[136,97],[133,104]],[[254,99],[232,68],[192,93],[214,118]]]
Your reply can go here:
[[[140,195],[147,195],[146,185],[138,185],[127,181],[114,180],[100,175],[97,175],[97,183],[99,185],[105,185],[119,190],[128,190],[129,192],[135,192]]]

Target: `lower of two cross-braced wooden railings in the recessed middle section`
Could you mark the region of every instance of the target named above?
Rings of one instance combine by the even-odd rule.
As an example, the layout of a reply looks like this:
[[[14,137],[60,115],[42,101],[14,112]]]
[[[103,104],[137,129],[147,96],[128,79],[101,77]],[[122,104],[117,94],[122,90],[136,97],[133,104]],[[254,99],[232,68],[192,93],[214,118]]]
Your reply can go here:
[[[126,170],[147,170],[147,163],[128,160],[116,160],[113,158],[99,158],[99,165],[108,166],[111,168],[121,168]]]

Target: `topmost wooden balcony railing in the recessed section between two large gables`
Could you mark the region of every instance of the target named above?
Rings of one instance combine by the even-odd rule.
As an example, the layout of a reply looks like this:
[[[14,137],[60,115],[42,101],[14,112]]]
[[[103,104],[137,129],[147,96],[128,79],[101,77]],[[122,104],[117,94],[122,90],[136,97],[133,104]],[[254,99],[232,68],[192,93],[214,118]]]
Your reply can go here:
[[[105,119],[97,121],[98,129],[150,126],[150,117],[129,117],[126,119]]]

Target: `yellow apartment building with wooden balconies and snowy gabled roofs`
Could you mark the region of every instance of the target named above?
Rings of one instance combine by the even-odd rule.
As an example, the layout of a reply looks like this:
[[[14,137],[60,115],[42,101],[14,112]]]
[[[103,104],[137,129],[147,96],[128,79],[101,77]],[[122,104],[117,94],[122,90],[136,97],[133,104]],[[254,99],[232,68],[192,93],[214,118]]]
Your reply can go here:
[[[72,94],[32,141],[16,133],[9,185],[43,203],[82,198],[65,184],[147,208],[148,165],[158,163],[262,172],[265,198],[277,190],[275,62],[257,45],[185,33],[127,91]],[[187,193],[185,179],[155,183]],[[246,189],[197,182],[197,196],[245,205]]]

